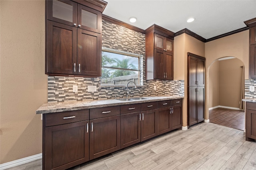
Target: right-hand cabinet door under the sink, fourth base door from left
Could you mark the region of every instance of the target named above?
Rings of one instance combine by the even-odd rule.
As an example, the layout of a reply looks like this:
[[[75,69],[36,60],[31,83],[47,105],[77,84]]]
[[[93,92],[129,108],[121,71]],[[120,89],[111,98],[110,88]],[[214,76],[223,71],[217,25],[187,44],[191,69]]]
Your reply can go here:
[[[142,111],[141,141],[145,141],[157,135],[156,109]]]

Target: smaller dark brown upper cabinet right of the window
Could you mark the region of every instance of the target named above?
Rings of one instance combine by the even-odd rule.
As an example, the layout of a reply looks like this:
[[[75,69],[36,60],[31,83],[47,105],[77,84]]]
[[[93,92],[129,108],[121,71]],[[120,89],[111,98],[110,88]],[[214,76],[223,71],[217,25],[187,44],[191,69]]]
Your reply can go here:
[[[146,32],[146,80],[173,80],[174,33],[158,25]]]

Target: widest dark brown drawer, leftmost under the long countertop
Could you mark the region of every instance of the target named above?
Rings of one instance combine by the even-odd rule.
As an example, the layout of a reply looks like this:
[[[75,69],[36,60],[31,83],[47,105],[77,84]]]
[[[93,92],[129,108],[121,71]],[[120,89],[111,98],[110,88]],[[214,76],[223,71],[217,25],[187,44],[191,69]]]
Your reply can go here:
[[[89,120],[89,109],[46,113],[45,126],[62,125],[84,120]]]

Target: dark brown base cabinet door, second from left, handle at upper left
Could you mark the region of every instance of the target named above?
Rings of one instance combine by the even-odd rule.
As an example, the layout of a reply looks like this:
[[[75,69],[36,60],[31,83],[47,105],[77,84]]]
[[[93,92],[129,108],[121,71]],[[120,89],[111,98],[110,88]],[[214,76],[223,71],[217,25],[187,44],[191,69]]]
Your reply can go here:
[[[120,149],[120,115],[90,120],[90,160]]]

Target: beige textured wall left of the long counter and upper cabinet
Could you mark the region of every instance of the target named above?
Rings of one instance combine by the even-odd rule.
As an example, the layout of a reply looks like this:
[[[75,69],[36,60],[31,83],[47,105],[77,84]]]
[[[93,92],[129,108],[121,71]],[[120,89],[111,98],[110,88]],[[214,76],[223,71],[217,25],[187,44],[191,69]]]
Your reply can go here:
[[[0,1],[0,164],[42,153],[47,102],[42,0]]]

